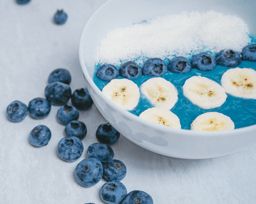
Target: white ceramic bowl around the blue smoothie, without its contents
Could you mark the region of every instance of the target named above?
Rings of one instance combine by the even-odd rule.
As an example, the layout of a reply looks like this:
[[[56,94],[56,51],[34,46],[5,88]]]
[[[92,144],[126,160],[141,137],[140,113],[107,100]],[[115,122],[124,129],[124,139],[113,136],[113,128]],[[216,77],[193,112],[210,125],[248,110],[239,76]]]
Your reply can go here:
[[[232,131],[198,132],[142,120],[117,107],[92,80],[96,48],[108,31],[163,14],[209,10],[236,14],[256,33],[256,4],[241,0],[109,0],[86,22],[79,43],[79,60],[87,88],[106,120],[138,146],[168,157],[201,159],[228,155],[256,143],[256,125]]]

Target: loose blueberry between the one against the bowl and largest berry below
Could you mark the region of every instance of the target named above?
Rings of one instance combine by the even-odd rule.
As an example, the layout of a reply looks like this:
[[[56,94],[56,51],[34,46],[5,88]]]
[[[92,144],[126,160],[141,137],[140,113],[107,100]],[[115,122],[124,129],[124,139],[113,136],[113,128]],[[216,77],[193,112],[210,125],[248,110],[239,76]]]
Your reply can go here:
[[[114,151],[109,145],[93,143],[88,147],[87,155],[89,158],[97,158],[100,162],[104,163],[109,159],[113,159]]]

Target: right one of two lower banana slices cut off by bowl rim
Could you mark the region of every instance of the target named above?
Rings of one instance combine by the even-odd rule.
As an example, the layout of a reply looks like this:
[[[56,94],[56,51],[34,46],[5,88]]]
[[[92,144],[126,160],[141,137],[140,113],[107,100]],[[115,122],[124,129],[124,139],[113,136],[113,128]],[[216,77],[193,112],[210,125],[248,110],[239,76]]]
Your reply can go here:
[[[197,116],[190,129],[197,131],[234,130],[235,124],[230,117],[222,113],[208,112]]]

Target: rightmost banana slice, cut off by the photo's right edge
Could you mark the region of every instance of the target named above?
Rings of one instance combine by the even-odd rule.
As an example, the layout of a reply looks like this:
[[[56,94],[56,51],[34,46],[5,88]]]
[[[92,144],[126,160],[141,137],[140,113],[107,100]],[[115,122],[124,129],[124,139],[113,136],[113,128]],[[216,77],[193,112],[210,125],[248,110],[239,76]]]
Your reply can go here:
[[[256,71],[249,68],[234,68],[221,77],[221,85],[228,94],[256,99]]]

